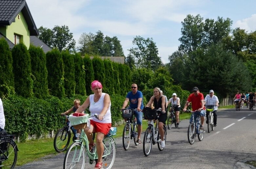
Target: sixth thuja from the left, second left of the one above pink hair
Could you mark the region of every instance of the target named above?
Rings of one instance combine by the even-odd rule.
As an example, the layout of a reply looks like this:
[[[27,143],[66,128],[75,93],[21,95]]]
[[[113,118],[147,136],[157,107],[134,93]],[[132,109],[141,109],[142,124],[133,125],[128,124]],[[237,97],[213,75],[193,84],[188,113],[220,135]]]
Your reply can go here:
[[[86,95],[85,89],[85,65],[84,60],[80,54],[74,55],[74,63],[75,63],[75,93]]]

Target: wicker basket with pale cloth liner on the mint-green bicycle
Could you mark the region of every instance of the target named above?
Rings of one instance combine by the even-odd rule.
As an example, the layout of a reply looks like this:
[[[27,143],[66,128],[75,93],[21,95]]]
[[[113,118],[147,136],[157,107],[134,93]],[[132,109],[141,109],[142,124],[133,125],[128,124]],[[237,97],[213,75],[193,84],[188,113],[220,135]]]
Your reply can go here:
[[[84,114],[83,116],[73,116],[72,114],[69,115],[69,122],[74,129],[81,129],[87,127],[89,114]]]

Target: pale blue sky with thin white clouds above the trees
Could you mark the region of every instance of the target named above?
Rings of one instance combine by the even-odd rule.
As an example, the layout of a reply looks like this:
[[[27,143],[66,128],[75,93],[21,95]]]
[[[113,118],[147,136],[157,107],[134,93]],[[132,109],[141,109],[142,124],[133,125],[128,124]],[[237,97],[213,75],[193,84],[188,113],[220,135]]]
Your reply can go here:
[[[116,36],[124,50],[135,47],[136,36],[153,38],[159,56],[168,63],[168,56],[178,49],[181,22],[188,14],[233,21],[232,28],[256,30],[255,0],[26,0],[34,22],[52,29],[67,25],[76,44],[82,33]]]

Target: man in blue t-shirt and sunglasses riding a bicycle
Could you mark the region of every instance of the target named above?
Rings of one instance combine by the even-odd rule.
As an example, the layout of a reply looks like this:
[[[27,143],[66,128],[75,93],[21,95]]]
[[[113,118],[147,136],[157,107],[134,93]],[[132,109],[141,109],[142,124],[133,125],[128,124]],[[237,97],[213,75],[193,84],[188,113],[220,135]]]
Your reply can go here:
[[[142,95],[141,91],[138,91],[138,86],[135,83],[133,83],[131,85],[131,92],[127,93],[122,109],[125,109],[128,102],[130,102],[129,108],[137,109],[137,110],[134,110],[134,114],[136,116],[137,125],[138,125],[137,143],[141,144],[141,138],[140,138],[141,130],[142,130],[142,112],[141,112],[141,110],[143,109],[143,95]]]

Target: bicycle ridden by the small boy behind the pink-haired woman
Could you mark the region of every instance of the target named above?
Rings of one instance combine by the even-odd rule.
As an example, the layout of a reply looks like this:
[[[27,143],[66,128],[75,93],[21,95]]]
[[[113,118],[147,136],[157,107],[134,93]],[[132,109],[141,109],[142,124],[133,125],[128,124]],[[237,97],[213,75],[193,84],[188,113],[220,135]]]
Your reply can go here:
[[[58,153],[65,151],[68,148],[70,138],[71,138],[70,129],[72,130],[72,132],[74,134],[72,141],[74,141],[76,139],[76,130],[69,123],[69,116],[65,115],[65,114],[63,116],[64,116],[64,126],[60,129],[58,129],[58,131],[56,132],[56,135],[54,137],[54,141],[53,141],[54,149]]]

